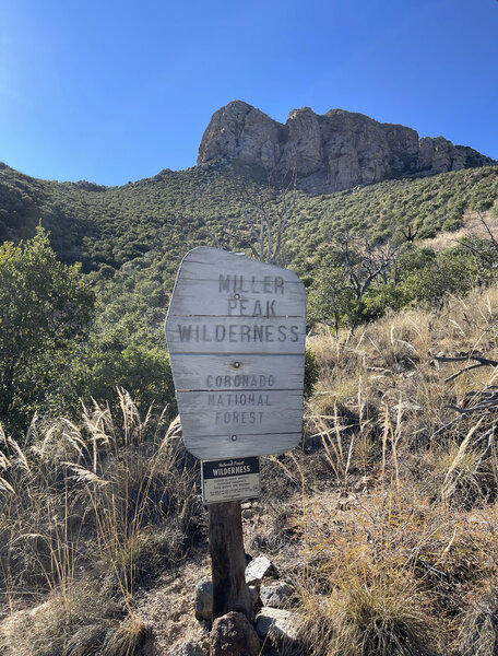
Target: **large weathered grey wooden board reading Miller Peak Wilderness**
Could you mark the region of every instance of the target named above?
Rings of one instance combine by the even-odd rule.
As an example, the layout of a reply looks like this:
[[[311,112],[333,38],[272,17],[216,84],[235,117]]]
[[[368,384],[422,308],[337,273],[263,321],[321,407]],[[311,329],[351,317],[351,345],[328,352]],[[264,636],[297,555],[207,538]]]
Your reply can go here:
[[[166,318],[187,449],[280,454],[303,430],[306,292],[298,277],[221,248],[183,258]]]

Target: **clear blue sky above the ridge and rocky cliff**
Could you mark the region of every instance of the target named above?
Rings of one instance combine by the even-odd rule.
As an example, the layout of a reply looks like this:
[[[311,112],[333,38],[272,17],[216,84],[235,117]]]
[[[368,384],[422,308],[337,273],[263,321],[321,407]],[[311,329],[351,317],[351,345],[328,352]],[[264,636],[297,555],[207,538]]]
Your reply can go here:
[[[0,161],[121,185],[195,164],[242,99],[443,134],[498,159],[497,0],[3,0]]]

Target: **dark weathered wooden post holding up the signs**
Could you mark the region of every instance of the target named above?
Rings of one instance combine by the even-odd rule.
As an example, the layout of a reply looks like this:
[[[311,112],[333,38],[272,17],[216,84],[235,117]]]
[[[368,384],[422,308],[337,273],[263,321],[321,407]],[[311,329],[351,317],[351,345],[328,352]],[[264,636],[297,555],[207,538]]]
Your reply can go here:
[[[242,612],[251,620],[240,501],[213,503],[209,509],[213,621],[230,610]]]

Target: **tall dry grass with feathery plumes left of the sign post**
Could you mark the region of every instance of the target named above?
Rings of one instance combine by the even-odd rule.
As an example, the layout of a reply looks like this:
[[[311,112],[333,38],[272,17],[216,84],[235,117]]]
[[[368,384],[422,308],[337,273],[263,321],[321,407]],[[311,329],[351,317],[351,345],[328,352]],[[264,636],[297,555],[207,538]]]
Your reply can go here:
[[[178,420],[142,420],[123,390],[119,401],[119,421],[95,403],[79,424],[34,422],[22,446],[2,435],[3,600],[12,612],[49,594],[21,616],[16,654],[70,654],[79,634],[88,654],[94,641],[95,653],[131,656],[145,635],[135,588],[179,564],[194,536],[195,469]]]

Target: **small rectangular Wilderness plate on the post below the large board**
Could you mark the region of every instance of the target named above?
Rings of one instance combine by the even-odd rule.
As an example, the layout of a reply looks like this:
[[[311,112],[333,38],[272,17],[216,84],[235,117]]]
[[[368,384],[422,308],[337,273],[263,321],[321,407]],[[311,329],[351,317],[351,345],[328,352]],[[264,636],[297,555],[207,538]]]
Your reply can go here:
[[[253,499],[261,493],[259,458],[202,461],[202,501]]]

